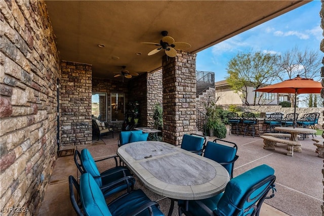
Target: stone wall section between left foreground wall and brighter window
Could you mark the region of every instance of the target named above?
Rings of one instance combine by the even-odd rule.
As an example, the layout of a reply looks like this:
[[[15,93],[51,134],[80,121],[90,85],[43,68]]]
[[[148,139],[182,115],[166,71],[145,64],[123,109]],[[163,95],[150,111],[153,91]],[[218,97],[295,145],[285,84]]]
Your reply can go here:
[[[62,61],[61,67],[60,145],[91,144],[92,66]]]

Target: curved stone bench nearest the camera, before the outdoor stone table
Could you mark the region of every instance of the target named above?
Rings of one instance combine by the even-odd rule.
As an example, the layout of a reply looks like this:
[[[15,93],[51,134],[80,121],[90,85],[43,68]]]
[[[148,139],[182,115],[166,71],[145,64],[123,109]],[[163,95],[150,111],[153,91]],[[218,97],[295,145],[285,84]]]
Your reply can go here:
[[[292,140],[284,140],[277,137],[271,137],[271,136],[260,136],[263,139],[263,148],[264,149],[271,149],[274,150],[274,146],[276,143],[282,143],[288,145],[287,147],[287,155],[293,156],[294,155],[294,146],[301,146],[299,142],[292,141]]]

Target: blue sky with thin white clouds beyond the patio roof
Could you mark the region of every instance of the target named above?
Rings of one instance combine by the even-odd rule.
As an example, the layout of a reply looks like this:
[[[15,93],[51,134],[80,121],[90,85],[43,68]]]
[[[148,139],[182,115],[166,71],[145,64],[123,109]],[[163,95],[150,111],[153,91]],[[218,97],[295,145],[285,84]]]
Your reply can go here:
[[[318,0],[307,3],[201,51],[197,54],[196,70],[215,72],[215,81],[220,81],[227,76],[227,63],[238,52],[280,54],[297,46],[301,51],[308,49],[321,53],[320,9],[321,3]]]

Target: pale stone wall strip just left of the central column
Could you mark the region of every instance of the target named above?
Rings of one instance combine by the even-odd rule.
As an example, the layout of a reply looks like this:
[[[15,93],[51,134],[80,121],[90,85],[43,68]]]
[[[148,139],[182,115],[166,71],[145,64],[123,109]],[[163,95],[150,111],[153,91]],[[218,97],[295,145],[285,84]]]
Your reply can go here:
[[[147,73],[147,126],[154,126],[154,109],[163,102],[162,70]]]

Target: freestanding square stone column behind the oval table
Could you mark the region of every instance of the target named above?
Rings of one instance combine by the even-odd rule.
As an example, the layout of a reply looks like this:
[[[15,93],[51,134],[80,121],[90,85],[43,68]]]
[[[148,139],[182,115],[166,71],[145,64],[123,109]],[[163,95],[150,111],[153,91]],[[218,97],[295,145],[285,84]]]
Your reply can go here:
[[[162,66],[163,139],[180,145],[184,134],[196,132],[196,54],[178,51],[164,56]]]

